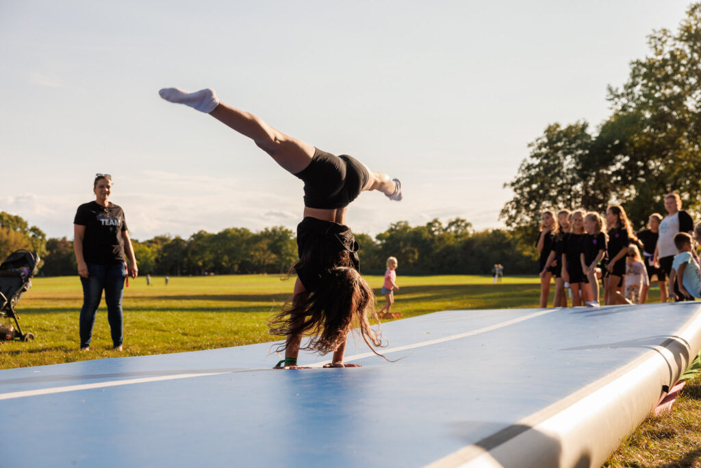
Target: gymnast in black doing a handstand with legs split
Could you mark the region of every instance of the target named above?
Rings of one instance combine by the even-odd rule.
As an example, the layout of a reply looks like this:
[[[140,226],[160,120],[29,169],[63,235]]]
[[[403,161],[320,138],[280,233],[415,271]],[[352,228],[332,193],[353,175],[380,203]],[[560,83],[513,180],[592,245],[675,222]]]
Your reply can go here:
[[[211,89],[187,93],[165,88],[161,98],[193,107],[253,140],[285,171],[304,182],[304,219],[297,226],[299,260],[292,302],[271,320],[271,333],[286,335],[278,347],[285,359],[276,368],[294,369],[299,349],[333,353],[325,367],[355,367],[343,362],[348,333],[359,328],[367,345],[376,352],[381,339],[370,328],[367,314],[374,314],[374,293],[360,276],[360,259],[351,229],[346,225],[348,204],[363,191],[377,190],[400,201],[397,179],[373,172],[351,156],[334,156],[285,135],[259,117],[229,107]],[[301,346],[303,335],[310,338]]]

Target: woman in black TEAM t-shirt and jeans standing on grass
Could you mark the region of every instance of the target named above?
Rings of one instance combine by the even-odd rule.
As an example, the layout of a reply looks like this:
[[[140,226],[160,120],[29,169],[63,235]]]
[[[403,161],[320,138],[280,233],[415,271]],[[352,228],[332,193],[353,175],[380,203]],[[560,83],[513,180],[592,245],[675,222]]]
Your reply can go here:
[[[73,248],[78,263],[78,274],[83,285],[83,307],[80,317],[81,351],[90,350],[95,314],[100,305],[103,290],[112,346],[117,351],[121,351],[124,280],[127,274],[136,278],[139,269],[129,239],[124,211],[109,201],[112,194],[111,175],[95,175],[93,192],[95,201],[79,206],[73,221]]]

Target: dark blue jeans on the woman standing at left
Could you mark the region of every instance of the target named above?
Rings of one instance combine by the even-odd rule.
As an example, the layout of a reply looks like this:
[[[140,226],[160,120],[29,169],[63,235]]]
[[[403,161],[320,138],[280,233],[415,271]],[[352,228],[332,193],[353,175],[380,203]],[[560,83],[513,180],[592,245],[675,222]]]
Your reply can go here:
[[[122,296],[127,269],[123,263],[98,265],[88,263],[88,277],[81,276],[83,283],[83,308],[81,309],[81,348],[90,346],[93,337],[95,314],[102,299],[107,304],[107,321],[114,346],[122,345]]]

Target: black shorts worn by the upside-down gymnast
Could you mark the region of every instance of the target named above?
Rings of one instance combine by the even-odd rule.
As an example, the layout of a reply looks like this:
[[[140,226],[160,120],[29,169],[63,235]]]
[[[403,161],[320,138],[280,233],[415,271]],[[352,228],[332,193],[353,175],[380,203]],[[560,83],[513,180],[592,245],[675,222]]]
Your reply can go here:
[[[370,180],[367,168],[353,156],[318,148],[309,166],[295,175],[304,180],[304,206],[328,210],[348,206]]]

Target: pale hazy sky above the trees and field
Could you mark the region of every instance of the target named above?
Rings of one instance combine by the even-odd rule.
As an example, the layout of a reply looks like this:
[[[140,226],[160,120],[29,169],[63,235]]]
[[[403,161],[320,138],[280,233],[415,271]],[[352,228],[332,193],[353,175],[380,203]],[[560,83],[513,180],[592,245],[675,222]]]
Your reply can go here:
[[[0,210],[72,239],[95,173],[132,239],[294,230],[302,182],[158,90],[227,104],[373,171],[355,232],[464,218],[503,227],[503,187],[550,123],[610,114],[606,87],[688,1],[0,0]]]

